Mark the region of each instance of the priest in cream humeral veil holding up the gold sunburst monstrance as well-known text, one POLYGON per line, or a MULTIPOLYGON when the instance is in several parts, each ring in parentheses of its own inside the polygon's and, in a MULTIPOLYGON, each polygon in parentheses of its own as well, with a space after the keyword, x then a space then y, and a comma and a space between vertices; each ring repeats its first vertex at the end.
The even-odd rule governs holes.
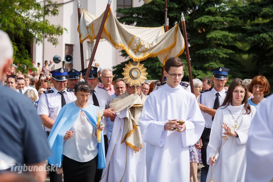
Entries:
POLYGON ((141 85, 147 79, 143 64, 131 61, 123 68, 126 92, 113 98, 110 108, 116 113, 103 169, 103 182, 146 182, 146 143, 143 142, 138 118, 147 96, 141 85))

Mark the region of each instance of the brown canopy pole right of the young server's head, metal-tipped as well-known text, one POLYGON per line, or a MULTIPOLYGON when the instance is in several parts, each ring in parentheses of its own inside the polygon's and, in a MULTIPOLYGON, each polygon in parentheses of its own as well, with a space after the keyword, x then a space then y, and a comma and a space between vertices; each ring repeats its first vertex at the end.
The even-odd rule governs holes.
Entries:
POLYGON ((194 94, 194 87, 193 87, 192 73, 191 73, 191 66, 190 66, 190 52, 189 52, 189 45, 188 45, 188 39, 187 39, 185 17, 183 15, 183 12, 181 14, 181 21, 182 21, 182 26, 183 26, 183 35, 184 35, 184 41, 185 41, 186 57, 187 57, 187 64, 188 64, 189 77, 190 77, 190 90, 191 90, 191 93, 194 94))

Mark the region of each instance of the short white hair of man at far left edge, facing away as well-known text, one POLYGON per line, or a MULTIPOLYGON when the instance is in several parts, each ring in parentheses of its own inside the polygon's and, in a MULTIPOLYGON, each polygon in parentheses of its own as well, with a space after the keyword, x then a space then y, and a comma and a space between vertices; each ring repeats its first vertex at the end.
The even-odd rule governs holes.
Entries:
POLYGON ((0 66, 5 64, 7 59, 13 57, 12 42, 6 32, 0 30, 0 66))

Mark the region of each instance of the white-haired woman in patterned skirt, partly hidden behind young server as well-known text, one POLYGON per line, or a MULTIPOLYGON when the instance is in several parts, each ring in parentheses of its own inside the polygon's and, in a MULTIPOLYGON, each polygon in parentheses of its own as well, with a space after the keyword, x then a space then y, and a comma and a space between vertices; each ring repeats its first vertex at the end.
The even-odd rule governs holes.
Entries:
MULTIPOLYGON (((195 95, 196 99, 198 99, 198 97, 203 89, 203 83, 198 78, 195 78, 192 81, 193 81, 193 86, 194 86, 194 95, 195 95)), ((202 141, 200 141, 200 142, 202 143, 202 141)), ((195 146, 189 146, 189 150, 190 150, 190 182, 198 182, 197 163, 202 163, 201 146, 202 146, 202 144, 198 144, 198 143, 195 146)))

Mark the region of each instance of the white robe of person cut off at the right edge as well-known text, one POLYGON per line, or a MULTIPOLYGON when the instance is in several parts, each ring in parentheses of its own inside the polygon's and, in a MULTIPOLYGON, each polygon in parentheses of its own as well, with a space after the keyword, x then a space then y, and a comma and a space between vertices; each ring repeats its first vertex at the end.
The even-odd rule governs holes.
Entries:
POLYGON ((247 142, 245 182, 270 181, 273 177, 273 96, 257 108, 247 142))

